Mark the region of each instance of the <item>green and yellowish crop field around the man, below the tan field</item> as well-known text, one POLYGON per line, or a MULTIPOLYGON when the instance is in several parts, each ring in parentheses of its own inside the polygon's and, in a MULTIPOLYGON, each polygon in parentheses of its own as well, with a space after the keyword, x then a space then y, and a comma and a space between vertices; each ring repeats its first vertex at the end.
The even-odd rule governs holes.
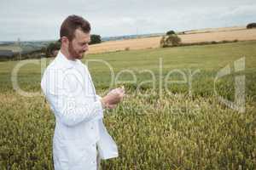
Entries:
MULTIPOLYGON (((131 81, 131 73, 137 77, 137 82, 124 83, 124 102, 106 112, 104 122, 119 146, 119 157, 103 161, 102 169, 256 169, 255 47, 256 41, 251 41, 85 56, 98 94, 108 92, 109 65, 115 77, 126 70, 120 81, 131 81), (234 100, 235 77, 245 75, 246 111, 240 113, 218 100, 214 78, 226 65, 234 71, 234 61, 242 57, 245 70, 216 84, 219 95, 234 100), (189 80, 189 71, 196 70, 190 90, 188 81, 164 86, 170 71, 179 73, 168 80, 189 80), (145 82, 152 77, 155 88, 145 82)), ((20 68, 18 82, 26 92, 40 92, 44 62, 31 61, 34 64, 20 68)), ((0 167, 52 169, 55 119, 43 96, 23 97, 12 88, 11 72, 18 64, 0 62, 0 167)))

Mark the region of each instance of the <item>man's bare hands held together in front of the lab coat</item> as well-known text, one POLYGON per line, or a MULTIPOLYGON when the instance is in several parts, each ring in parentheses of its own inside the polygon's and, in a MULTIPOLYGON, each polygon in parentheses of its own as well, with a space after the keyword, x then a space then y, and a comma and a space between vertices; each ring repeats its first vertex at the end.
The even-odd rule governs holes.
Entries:
POLYGON ((125 88, 115 88, 102 98, 102 105, 105 108, 113 109, 124 98, 125 88))

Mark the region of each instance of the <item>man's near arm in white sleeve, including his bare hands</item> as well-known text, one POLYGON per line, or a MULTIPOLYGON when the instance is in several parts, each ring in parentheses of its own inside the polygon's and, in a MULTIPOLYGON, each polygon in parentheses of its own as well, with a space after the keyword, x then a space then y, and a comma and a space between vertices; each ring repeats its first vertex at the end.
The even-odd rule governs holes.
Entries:
POLYGON ((88 122, 93 119, 102 119, 103 108, 113 109, 125 94, 124 90, 117 88, 116 92, 109 93, 103 98, 97 96, 95 102, 86 103, 86 99, 84 99, 82 104, 78 104, 75 99, 76 94, 73 94, 73 86, 70 86, 76 79, 67 78, 67 76, 68 74, 66 77, 63 76, 61 71, 46 72, 41 82, 41 87, 55 116, 67 126, 75 126, 80 122, 88 122), (65 79, 60 77, 65 77, 65 79), (65 88, 63 88, 64 85, 66 85, 65 88))

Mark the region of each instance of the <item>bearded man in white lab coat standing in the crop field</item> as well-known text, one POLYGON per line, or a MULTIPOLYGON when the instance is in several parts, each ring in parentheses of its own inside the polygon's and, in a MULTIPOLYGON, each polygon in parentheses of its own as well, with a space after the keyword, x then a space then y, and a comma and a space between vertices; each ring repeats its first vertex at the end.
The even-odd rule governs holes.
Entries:
MULTIPOLYGON (((55 114, 55 170, 93 170, 96 157, 118 156, 117 146, 102 122, 103 109, 113 109, 125 94, 116 88, 105 97, 96 90, 83 58, 90 42, 90 23, 68 16, 60 31, 61 50, 44 71, 41 87, 55 114)), ((98 162, 99 164, 99 162, 98 162)))

